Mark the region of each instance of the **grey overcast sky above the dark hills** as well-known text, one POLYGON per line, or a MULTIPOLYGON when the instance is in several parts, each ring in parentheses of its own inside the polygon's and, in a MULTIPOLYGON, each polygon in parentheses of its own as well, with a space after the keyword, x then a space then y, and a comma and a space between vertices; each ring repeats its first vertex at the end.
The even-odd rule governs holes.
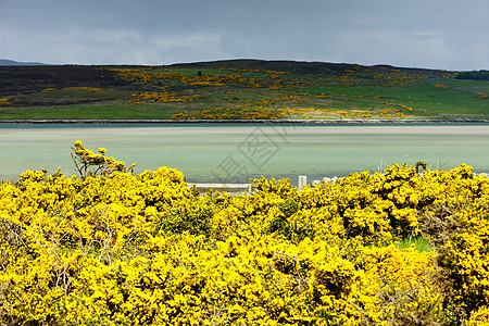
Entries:
POLYGON ((0 59, 489 70, 489 0, 0 0, 0 59))

